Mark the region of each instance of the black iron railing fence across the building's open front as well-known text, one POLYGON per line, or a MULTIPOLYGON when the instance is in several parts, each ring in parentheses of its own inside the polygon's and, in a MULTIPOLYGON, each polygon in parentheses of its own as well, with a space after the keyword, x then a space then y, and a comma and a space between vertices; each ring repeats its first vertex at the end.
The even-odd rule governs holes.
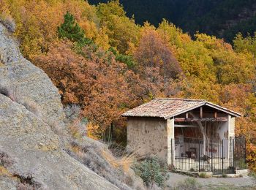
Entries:
POLYGON ((175 145, 171 158, 177 170, 227 174, 246 169, 244 138, 205 140, 205 143, 202 139, 181 138, 172 140, 171 145, 172 148, 175 145))

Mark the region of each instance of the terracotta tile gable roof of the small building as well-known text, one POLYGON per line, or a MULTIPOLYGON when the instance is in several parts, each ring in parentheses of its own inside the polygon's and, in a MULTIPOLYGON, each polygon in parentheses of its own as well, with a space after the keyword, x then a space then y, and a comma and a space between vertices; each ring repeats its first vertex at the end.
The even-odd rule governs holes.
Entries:
POLYGON ((193 110, 197 107, 208 105, 214 107, 217 110, 222 110, 233 116, 241 116, 239 113, 227 110, 225 107, 206 102, 204 99, 167 99, 158 98, 153 99, 151 102, 142 104, 135 107, 132 110, 127 111, 122 116, 125 117, 157 117, 157 118, 171 118, 181 113, 185 113, 189 110, 193 110))

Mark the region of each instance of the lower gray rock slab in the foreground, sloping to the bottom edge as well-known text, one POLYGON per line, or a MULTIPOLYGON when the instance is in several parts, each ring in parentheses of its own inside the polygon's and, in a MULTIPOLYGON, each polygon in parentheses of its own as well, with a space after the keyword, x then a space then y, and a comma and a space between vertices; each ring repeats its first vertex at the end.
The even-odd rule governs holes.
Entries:
POLYGON ((0 115, 0 151, 12 159, 5 166, 12 174, 32 176, 42 189, 117 189, 62 151, 34 113, 1 94, 0 115))

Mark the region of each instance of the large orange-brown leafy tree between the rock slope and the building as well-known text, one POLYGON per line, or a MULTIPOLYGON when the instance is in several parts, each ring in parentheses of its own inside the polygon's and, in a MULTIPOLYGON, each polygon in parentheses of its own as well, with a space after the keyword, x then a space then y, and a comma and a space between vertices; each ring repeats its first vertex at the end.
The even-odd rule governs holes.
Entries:
POLYGON ((84 58, 72 47, 71 42, 55 42, 46 56, 37 56, 37 64, 59 88, 62 102, 80 104, 84 116, 105 132, 134 99, 125 80, 127 67, 104 50, 94 53, 84 47, 90 57, 84 58))

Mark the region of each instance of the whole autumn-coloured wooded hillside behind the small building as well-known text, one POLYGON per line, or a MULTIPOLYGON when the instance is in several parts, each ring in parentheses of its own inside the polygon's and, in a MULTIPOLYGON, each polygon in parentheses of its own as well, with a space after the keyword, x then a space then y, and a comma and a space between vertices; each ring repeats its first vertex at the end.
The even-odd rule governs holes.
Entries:
MULTIPOLYGON (((89 137, 125 145, 121 113, 164 96, 242 113, 236 135, 256 137, 256 37, 238 34, 232 47, 207 34, 192 38, 167 20, 140 26, 118 1, 4 0, 0 11, 7 25, 15 22, 20 50, 48 74, 62 103, 82 108, 89 137)), ((256 147, 247 145, 255 170, 256 147)))

